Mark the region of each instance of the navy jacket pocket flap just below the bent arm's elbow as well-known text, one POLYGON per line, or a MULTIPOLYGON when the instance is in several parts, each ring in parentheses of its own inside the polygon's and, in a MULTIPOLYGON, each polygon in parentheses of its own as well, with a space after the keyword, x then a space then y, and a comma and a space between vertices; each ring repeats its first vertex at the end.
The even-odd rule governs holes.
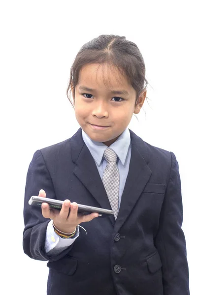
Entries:
POLYGON ((78 261, 72 257, 65 256, 57 261, 49 261, 47 266, 59 272, 65 273, 66 275, 74 274, 77 268, 78 261))

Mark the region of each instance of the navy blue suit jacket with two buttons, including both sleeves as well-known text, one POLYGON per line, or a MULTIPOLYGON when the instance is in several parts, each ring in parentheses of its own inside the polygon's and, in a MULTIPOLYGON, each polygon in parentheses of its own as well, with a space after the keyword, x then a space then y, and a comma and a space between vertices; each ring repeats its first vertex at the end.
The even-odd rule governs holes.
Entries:
POLYGON ((172 152, 131 130, 131 162, 117 220, 96 218, 56 256, 45 252, 49 219, 28 204, 40 189, 48 198, 111 209, 81 128, 37 150, 25 189, 24 252, 48 261, 47 295, 189 295, 178 163, 172 152))

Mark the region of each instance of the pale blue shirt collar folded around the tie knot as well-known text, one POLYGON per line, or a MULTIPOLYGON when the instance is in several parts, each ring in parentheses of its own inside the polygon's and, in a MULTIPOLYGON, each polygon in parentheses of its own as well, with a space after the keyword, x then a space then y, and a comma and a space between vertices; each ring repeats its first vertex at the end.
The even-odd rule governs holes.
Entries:
MULTIPOLYGON (((94 160, 96 161, 97 165, 100 166, 103 153, 107 146, 103 143, 96 142, 92 140, 82 129, 82 137, 83 140, 90 150, 94 160)), ((120 159, 121 163, 124 165, 125 160, 127 157, 127 153, 131 144, 131 136, 130 131, 127 128, 119 137, 118 139, 109 147, 112 148, 115 153, 117 154, 118 158, 120 159)))

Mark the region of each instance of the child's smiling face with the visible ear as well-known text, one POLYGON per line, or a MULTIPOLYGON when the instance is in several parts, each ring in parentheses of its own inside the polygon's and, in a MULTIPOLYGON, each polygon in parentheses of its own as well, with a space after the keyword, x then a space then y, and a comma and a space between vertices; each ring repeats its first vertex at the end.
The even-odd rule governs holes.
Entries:
POLYGON ((99 67, 99 64, 84 65, 75 88, 75 116, 92 140, 109 147, 125 131, 132 114, 139 113, 145 97, 146 90, 143 90, 135 105, 136 92, 117 68, 107 65, 99 67), (128 93, 111 92, 114 90, 128 93))

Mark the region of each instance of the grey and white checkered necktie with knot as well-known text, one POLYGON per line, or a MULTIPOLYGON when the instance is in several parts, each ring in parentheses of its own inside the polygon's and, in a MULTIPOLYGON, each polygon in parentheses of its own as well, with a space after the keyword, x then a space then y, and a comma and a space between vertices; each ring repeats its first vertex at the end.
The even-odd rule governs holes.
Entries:
POLYGON ((113 149, 106 148, 103 158, 107 161, 107 166, 103 173, 102 182, 116 219, 118 215, 119 201, 119 171, 116 164, 117 154, 113 149))

